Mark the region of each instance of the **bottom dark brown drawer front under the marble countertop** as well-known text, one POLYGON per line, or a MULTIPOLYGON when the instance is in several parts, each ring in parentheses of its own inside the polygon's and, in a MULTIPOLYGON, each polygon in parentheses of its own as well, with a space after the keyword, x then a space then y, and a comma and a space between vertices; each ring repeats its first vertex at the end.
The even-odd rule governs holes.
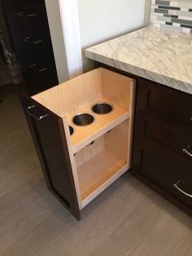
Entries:
POLYGON ((192 214, 191 166, 140 139, 135 141, 135 148, 134 165, 140 179, 189 207, 192 214))

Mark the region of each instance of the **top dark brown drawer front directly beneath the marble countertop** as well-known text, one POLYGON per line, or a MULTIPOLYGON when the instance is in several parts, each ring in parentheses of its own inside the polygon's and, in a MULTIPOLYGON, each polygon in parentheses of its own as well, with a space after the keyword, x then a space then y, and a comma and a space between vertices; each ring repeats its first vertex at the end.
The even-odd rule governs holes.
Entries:
POLYGON ((192 95, 141 78, 137 87, 137 111, 192 133, 192 95))

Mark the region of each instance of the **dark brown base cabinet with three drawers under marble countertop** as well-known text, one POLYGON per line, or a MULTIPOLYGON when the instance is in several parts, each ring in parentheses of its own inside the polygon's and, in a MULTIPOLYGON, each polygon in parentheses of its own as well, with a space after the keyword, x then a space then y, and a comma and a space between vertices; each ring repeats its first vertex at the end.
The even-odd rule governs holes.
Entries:
POLYGON ((138 78, 131 172, 192 215, 192 96, 138 78))

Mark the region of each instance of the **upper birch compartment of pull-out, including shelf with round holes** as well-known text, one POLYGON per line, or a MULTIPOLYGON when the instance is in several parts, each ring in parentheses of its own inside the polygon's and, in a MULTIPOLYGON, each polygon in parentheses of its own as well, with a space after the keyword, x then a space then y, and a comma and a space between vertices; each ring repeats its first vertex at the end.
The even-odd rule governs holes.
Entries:
POLYGON ((71 147, 75 153, 129 118, 132 86, 132 78, 106 68, 96 68, 34 95, 33 99, 59 117, 68 119, 68 125, 74 129, 71 147), (91 107, 101 101, 113 104, 111 113, 99 115, 91 112, 91 107), (76 126, 72 123, 72 117, 79 113, 92 114, 95 121, 89 126, 76 126))

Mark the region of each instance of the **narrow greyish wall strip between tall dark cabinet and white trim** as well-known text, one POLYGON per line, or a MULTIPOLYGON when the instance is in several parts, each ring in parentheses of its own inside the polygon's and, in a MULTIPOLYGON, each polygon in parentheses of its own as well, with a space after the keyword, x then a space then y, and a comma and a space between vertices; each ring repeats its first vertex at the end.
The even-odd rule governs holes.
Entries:
POLYGON ((46 0, 46 11, 50 25, 50 36, 55 55, 55 64, 59 83, 61 83, 68 80, 68 66, 59 11, 59 0, 46 0))

